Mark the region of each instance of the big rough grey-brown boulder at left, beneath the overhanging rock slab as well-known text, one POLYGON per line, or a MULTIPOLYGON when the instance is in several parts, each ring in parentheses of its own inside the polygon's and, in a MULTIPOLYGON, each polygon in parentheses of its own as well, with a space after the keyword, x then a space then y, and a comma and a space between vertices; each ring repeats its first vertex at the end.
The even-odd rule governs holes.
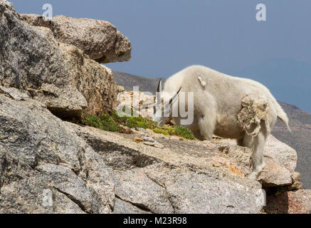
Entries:
POLYGON ((79 48, 59 43, 51 29, 30 26, 0 1, 0 84, 28 91, 61 118, 110 113, 113 74, 79 48))

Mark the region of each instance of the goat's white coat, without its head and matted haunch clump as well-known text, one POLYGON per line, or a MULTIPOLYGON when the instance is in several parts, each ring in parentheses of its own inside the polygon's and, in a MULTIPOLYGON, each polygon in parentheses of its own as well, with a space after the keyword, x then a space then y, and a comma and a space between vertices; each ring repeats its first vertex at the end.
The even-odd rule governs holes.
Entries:
MULTIPOLYGON (((194 92, 194 123, 185 127, 200 140, 209 140, 213 135, 218 135, 236 139, 238 145, 251 148, 251 178, 255 179, 265 165, 263 147, 277 118, 288 126, 286 113, 268 88, 251 79, 228 76, 204 66, 190 66, 174 74, 167 79, 163 91, 172 93, 180 87, 181 92, 194 92), (259 133, 255 137, 246 133, 237 120, 241 100, 246 95, 264 97, 268 103, 267 118, 261 120, 259 133)), ((181 100, 178 99, 178 102, 187 107, 187 104, 181 104, 181 100)), ((176 125, 180 125, 180 117, 172 119, 176 125)))

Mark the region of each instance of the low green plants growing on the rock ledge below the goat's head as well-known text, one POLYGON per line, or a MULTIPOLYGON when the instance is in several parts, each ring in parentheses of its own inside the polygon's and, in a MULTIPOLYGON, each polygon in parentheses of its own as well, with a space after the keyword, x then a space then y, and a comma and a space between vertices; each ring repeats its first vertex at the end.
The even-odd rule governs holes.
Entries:
POLYGON ((188 140, 195 140, 193 133, 191 130, 184 128, 182 126, 172 126, 172 125, 164 125, 159 126, 152 120, 148 120, 142 118, 141 116, 124 116, 120 117, 117 115, 117 112, 112 115, 108 115, 106 113, 102 113, 102 115, 85 115, 83 120, 83 124, 100 128, 102 130, 109 131, 121 131, 120 125, 125 125, 128 128, 144 128, 151 129, 154 133, 163 134, 163 135, 177 135, 181 138, 185 138, 188 140))

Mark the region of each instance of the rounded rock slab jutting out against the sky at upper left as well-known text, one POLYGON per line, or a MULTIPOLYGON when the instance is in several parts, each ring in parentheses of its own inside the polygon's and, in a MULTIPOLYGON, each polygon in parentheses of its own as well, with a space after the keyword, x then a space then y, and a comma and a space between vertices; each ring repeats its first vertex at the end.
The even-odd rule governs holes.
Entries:
POLYGON ((68 16, 49 19, 36 14, 22 14, 21 19, 32 26, 50 28, 58 41, 80 48, 99 63, 131 59, 130 41, 108 21, 73 19, 68 16))

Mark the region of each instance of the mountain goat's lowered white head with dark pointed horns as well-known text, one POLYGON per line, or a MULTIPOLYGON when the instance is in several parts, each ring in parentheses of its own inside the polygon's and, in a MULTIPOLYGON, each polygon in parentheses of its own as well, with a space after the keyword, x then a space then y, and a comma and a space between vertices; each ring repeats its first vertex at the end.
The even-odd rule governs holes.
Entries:
POLYGON ((154 112, 152 120, 159 125, 164 125, 165 120, 169 118, 173 104, 178 100, 181 88, 172 97, 168 93, 162 93, 162 80, 159 81, 156 95, 156 103, 154 103, 154 112), (168 97, 169 96, 169 97, 168 97))

